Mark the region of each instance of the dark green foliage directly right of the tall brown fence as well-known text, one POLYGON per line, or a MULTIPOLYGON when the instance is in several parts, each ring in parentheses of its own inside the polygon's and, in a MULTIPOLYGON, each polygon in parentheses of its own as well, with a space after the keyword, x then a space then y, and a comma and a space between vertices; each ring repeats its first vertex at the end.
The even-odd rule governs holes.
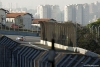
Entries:
POLYGON ((78 28, 78 47, 90 50, 100 54, 100 38, 96 37, 96 34, 92 34, 89 28, 78 28))

